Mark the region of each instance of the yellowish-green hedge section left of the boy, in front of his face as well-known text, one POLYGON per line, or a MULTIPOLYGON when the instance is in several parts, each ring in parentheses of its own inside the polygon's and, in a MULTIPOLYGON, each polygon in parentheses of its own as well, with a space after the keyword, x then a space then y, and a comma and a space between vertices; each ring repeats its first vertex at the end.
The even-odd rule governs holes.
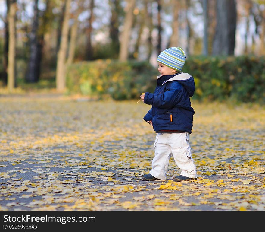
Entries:
POLYGON ((155 75, 157 71, 148 62, 97 60, 70 65, 66 82, 69 93, 124 100, 154 91, 155 75))

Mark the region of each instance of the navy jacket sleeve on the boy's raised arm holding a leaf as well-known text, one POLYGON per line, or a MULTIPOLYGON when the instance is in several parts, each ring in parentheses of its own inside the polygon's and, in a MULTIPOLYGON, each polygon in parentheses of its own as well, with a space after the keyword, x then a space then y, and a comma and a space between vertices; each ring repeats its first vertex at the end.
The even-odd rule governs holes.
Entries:
POLYGON ((158 108, 170 109, 182 101, 184 89, 177 81, 172 81, 161 94, 146 92, 144 103, 158 108))

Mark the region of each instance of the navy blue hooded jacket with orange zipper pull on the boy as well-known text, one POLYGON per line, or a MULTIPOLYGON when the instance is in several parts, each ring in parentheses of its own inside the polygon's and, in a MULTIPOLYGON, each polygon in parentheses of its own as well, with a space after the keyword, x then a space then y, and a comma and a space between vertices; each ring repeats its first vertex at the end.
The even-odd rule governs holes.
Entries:
POLYGON ((144 120, 152 120, 154 131, 176 130, 192 133, 194 110, 190 97, 195 91, 194 78, 188 73, 157 77, 154 93, 145 93, 144 103, 151 109, 144 120))

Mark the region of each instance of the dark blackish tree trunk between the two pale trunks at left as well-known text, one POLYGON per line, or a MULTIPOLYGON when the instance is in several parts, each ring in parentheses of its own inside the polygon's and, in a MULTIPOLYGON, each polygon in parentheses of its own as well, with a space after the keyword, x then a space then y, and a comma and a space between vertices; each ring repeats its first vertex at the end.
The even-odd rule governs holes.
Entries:
POLYGON ((37 62, 39 59, 37 59, 38 56, 38 38, 37 38, 37 33, 38 33, 38 27, 39 27, 39 10, 38 10, 38 1, 35 0, 34 3, 34 17, 33 17, 33 24, 32 24, 32 30, 30 32, 30 59, 28 63, 28 72, 26 74, 26 81, 27 82, 37 82, 39 80, 38 77, 38 64, 37 62))

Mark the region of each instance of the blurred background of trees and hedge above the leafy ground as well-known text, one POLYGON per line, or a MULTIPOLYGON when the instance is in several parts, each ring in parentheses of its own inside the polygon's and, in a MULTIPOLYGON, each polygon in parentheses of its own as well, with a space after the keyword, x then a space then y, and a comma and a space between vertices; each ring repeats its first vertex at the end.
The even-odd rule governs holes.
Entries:
POLYGON ((139 98, 172 46, 194 99, 265 102, 265 0, 0 0, 0 96, 139 98))

